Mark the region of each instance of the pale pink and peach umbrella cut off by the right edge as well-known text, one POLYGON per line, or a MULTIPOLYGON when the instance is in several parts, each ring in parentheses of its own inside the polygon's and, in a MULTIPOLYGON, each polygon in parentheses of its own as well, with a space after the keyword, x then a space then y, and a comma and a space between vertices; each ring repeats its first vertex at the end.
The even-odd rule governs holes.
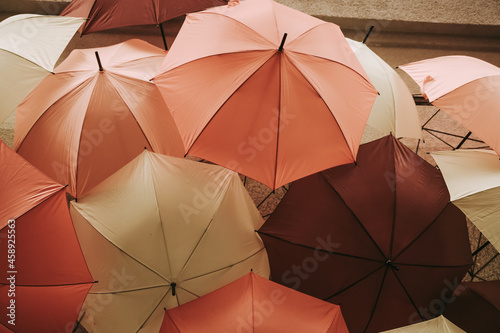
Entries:
POLYGON ((439 109, 500 154, 500 68, 466 56, 445 56, 400 66, 439 109))

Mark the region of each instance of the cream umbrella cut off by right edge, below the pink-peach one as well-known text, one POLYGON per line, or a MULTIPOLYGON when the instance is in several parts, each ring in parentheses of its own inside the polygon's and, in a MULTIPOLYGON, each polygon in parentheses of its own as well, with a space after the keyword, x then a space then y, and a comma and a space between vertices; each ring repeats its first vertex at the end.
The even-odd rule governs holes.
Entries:
POLYGON ((500 251, 500 161, 491 150, 434 152, 453 203, 500 251))

